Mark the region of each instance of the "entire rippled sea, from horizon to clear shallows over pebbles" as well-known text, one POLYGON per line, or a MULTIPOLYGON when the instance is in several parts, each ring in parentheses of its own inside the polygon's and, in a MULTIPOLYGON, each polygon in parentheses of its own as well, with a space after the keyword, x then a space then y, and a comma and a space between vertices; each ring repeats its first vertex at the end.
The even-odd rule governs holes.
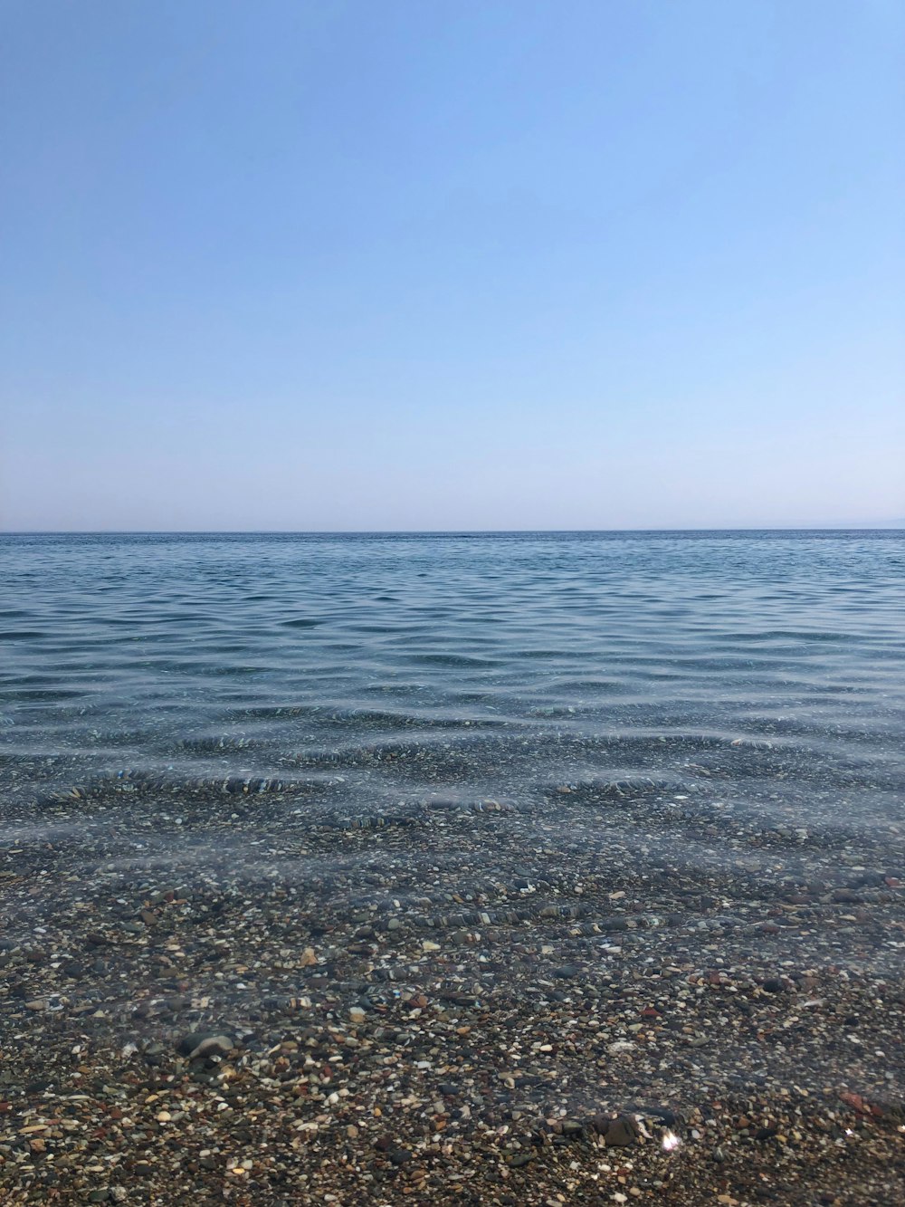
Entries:
POLYGON ((25 1066, 391 1019, 433 1101, 427 1002, 494 1127, 789 1085, 899 1109, 904 533, 0 548, 25 1066))

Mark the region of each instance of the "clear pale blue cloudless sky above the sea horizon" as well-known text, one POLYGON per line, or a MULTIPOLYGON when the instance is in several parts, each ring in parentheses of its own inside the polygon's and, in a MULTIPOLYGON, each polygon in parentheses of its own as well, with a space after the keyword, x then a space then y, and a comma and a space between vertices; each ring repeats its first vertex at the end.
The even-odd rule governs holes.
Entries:
POLYGON ((4 0, 0 526, 905 517, 900 0, 4 0))

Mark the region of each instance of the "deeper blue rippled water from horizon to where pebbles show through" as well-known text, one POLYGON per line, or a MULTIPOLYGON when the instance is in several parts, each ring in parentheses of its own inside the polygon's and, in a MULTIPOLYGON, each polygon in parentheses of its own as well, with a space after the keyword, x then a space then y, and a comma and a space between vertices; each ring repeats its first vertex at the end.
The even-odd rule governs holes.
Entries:
POLYGON ((351 822, 643 792, 900 817, 899 531, 21 535, 0 558, 23 807, 118 780, 220 786, 211 809, 303 785, 351 822))

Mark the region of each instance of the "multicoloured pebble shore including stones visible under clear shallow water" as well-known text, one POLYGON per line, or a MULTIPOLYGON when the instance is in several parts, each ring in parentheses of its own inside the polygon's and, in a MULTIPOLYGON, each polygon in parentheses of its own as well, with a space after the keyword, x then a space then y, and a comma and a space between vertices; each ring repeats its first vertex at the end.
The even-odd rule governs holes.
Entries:
POLYGON ((315 787, 10 797, 4 1203, 905 1201, 895 823, 315 787))

